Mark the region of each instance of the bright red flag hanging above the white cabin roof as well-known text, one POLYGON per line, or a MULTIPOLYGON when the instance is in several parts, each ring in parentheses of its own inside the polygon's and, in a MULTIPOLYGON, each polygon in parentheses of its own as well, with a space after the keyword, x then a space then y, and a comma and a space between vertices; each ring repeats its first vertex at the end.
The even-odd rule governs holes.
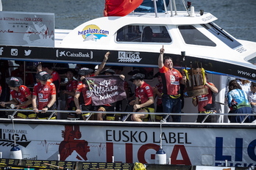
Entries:
POLYGON ((105 0, 104 16, 125 16, 142 2, 143 0, 105 0))

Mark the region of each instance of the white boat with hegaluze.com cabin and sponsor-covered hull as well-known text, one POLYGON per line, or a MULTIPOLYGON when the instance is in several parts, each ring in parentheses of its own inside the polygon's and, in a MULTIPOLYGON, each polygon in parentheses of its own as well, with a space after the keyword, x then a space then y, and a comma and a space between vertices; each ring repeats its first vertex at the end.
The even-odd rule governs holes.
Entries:
MULTIPOLYGON (((174 6, 174 1, 171 4, 174 6)), ((132 67, 150 67, 154 75, 158 71, 160 48, 164 46, 166 55, 174 59, 177 68, 204 68, 221 89, 216 98, 218 122, 196 123, 194 113, 197 111, 190 98, 185 98, 179 123, 10 117, 0 119, 3 158, 10 158, 11 147, 18 144, 24 160, 150 164, 156 163, 156 152, 161 147, 166 153, 166 163, 171 165, 255 166, 256 124, 228 122, 224 96, 232 78, 256 81, 256 42, 235 39, 214 23, 217 18, 213 14, 195 12, 193 6, 184 5, 185 11, 171 7, 161 13, 131 12, 125 16, 96 18, 73 30, 56 29, 54 47, 32 42, 0 45, 0 59, 100 64, 104 53, 110 51, 107 66, 123 66, 126 75, 132 67), (148 38, 144 31, 150 29, 152 34, 148 38)), ((42 37, 52 39, 47 30, 42 37)), ((156 83, 150 74, 147 82, 156 83)))

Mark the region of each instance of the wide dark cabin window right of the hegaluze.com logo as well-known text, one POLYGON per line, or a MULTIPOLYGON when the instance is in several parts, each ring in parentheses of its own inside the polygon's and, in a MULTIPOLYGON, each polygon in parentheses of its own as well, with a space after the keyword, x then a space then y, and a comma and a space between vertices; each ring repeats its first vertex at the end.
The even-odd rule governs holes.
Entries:
POLYGON ((117 42, 171 42, 166 26, 128 25, 118 30, 117 42))

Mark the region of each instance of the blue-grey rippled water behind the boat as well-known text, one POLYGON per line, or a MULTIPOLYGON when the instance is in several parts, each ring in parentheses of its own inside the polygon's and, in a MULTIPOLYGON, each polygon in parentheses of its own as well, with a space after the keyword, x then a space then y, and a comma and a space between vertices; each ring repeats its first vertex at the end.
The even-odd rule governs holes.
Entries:
MULTIPOLYGON (((191 0, 195 11, 215 15, 215 23, 232 36, 256 42, 256 0, 191 0)), ((74 29, 103 16, 104 0, 2 0, 4 11, 52 12, 56 29, 74 29)), ((183 10, 177 0, 177 9, 183 10)))

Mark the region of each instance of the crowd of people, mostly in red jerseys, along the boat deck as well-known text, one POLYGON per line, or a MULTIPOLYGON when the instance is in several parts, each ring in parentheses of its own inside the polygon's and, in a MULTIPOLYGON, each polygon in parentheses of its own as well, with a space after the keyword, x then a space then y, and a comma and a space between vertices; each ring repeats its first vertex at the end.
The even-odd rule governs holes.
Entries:
MULTIPOLYGON (((158 58, 159 72, 154 75, 159 84, 150 86, 144 81, 145 74, 140 71, 133 71, 129 75, 129 81, 135 84, 135 93, 131 95, 127 81, 124 81, 124 89, 127 92, 127 99, 129 102, 131 114, 128 120, 135 122, 157 121, 160 122, 166 115, 163 114, 148 114, 148 113, 181 113, 184 106, 183 92, 185 75, 175 69, 172 59, 168 56, 163 56, 164 48, 160 49, 158 58), (183 87, 183 88, 182 88, 183 87), (156 101, 155 101, 156 100, 156 101)), ((65 76, 68 82, 65 84, 65 89, 62 90, 65 94, 65 110, 71 111, 67 117, 71 119, 87 119, 90 111, 99 111, 96 114, 90 115, 93 120, 120 120, 122 114, 118 112, 123 111, 122 101, 115 103, 107 103, 102 106, 93 106, 90 89, 85 79, 88 77, 95 77, 97 75, 120 75, 124 79, 124 75, 120 72, 122 67, 113 66, 104 70, 110 52, 105 53, 103 62, 99 64, 97 70, 88 67, 80 67, 76 72, 75 69, 66 69, 63 75, 53 70, 49 63, 40 63, 37 66, 37 73, 35 75, 36 84, 33 84, 33 90, 23 84, 22 76, 17 76, 19 72, 13 73, 13 76, 6 78, 6 83, 10 87, 11 100, 1 101, 1 108, 10 107, 15 109, 30 109, 33 111, 18 111, 15 118, 19 119, 48 119, 51 115, 49 110, 56 110, 58 104, 58 97, 60 90, 61 76, 65 76), (103 71, 102 71, 103 70, 103 71), (16 75, 16 76, 15 76, 16 75), (107 112, 110 114, 106 114, 107 112), (115 114, 116 111, 116 114, 115 114)), ((15 72, 15 70, 14 70, 15 72)), ((28 78, 28 77, 26 77, 28 78)), ((249 84, 249 92, 245 92, 241 80, 232 80, 229 84, 229 92, 227 92, 227 103, 230 107, 230 113, 238 113, 240 115, 229 117, 230 122, 242 122, 246 114, 255 112, 256 105, 256 84, 254 82, 247 82, 249 84), (241 115, 244 114, 244 115, 241 115)), ((213 83, 207 81, 205 76, 205 87, 208 93, 192 98, 193 106, 198 108, 199 116, 196 122, 214 122, 214 116, 207 117, 205 114, 216 113, 215 96, 218 89, 213 83)), ((0 86, 1 95, 1 86, 0 86)), ((127 111, 127 109, 125 109, 127 111)), ((1 111, 1 117, 5 117, 1 111)), ((51 115, 51 119, 57 119, 57 115, 51 115)), ((249 116, 245 122, 253 122, 255 117, 249 116)), ((181 122, 181 115, 171 115, 168 117, 168 122, 181 122)))

